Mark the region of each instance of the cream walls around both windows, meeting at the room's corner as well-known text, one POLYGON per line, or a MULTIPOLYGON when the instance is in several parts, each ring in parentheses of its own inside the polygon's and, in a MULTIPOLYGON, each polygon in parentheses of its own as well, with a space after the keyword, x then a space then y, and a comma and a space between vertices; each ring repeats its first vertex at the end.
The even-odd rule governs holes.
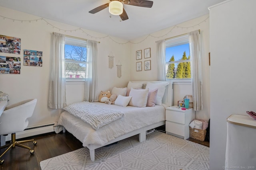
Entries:
MULTIPOLYGON (((21 13, 0 7, 0 34, 9 35, 21 38, 21 50, 38 50, 43 51, 43 66, 21 67, 20 75, 2 74, 0 75, 0 90, 6 92, 10 96, 9 104, 16 103, 27 98, 37 98, 38 103, 33 116, 29 119, 29 126, 43 125, 53 123, 58 119, 60 110, 48 108, 48 91, 50 79, 50 64, 52 53, 52 32, 59 32, 74 37, 81 37, 85 39, 92 39, 100 41, 98 43, 98 72, 99 72, 99 91, 111 90, 112 87, 124 87, 129 80, 157 80, 157 59, 156 59, 156 41, 174 37, 197 29, 201 30, 202 41, 202 73, 203 73, 203 110, 196 112, 196 117, 208 120, 210 118, 210 66, 208 65, 209 52, 209 16, 202 16, 194 20, 189 20, 173 27, 168 27, 161 31, 152 33, 148 37, 140 37, 132 40, 130 43, 124 39, 116 37, 106 37, 106 35, 94 31, 83 29, 82 31, 62 31, 77 29, 72 25, 58 23, 47 20, 50 24, 43 20, 30 22, 13 21, 14 20, 37 20, 40 17, 21 13), (62 30, 56 29, 59 27, 62 30), (105 38, 100 38, 105 37, 105 38), (122 44, 125 43, 125 44, 122 44), (151 48, 151 70, 136 71, 136 51, 142 50, 142 61, 144 64, 144 49, 151 48), (114 55, 114 68, 108 68, 108 55, 114 55), (122 77, 116 76, 116 64, 120 61, 122 64, 122 77)), ((2 56, 23 57, 22 55, 14 55, 7 53, 0 53, 2 56)), ((147 60, 148 60, 147 59, 147 60)), ((21 60, 23 62, 23 58, 21 60)), ((185 85, 187 86, 187 84, 185 85)), ((184 86, 184 87, 185 87, 184 86)), ((67 83, 67 103, 79 102, 83 100, 83 84, 80 82, 67 83)), ((180 86, 174 86, 175 100, 182 100, 183 92, 186 94, 191 90, 191 86, 186 90, 182 90, 180 86), (179 94, 180 91, 180 94, 179 94)), ((174 101, 176 104, 177 101, 174 101)))

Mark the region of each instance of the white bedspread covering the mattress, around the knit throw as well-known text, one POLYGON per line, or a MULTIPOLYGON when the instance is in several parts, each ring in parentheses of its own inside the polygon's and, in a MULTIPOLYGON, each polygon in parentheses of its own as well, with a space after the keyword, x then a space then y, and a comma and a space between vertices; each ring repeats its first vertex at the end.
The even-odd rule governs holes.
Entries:
POLYGON ((94 104, 122 111, 124 113, 124 117, 104 125, 96 131, 89 124, 84 123, 81 119, 78 119, 74 115, 64 111, 61 113, 58 122, 54 125, 55 132, 59 133, 62 130, 61 126, 64 126, 67 131, 72 133, 83 143, 84 147, 87 147, 90 144, 103 146, 121 135, 165 120, 164 106, 122 107, 100 102, 96 102, 94 104))

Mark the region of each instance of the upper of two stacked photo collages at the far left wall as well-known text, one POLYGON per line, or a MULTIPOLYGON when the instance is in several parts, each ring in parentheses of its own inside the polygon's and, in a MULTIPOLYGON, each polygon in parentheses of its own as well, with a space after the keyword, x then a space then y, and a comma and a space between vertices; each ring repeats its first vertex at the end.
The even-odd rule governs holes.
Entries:
POLYGON ((20 45, 20 38, 0 35, 0 52, 20 54, 20 45))

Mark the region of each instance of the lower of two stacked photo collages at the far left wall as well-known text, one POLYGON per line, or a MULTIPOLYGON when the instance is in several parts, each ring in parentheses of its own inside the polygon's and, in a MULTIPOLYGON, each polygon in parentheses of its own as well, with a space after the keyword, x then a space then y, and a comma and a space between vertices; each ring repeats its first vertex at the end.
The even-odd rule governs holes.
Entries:
POLYGON ((0 74, 20 74, 20 57, 0 56, 0 74))

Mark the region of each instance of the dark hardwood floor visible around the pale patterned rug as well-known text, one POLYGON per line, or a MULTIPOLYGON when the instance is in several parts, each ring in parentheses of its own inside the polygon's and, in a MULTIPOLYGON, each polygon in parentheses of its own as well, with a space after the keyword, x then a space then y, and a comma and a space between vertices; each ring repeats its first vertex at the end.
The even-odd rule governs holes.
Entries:
MULTIPOLYGON (((24 145, 34 149, 34 154, 30 154, 28 149, 14 147, 4 156, 4 163, 0 165, 1 170, 41 170, 40 162, 54 156, 58 156, 76 149, 82 148, 82 143, 76 139, 68 131, 66 133, 46 133, 34 137, 18 139, 17 141, 35 139, 37 145, 32 142, 23 143, 24 145)), ((201 142, 196 139, 188 139, 189 141, 200 143, 209 147, 208 142, 201 142)), ((2 154, 6 148, 0 149, 2 154)))

